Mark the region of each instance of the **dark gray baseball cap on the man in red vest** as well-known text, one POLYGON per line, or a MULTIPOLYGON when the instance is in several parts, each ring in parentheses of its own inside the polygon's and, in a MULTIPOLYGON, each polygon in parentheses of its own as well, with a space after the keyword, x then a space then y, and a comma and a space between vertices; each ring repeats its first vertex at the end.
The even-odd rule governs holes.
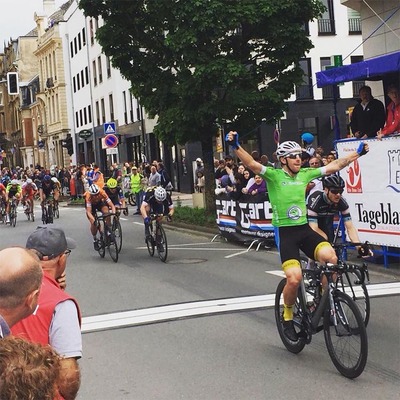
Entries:
POLYGON ((26 241, 27 249, 34 249, 49 258, 57 257, 65 250, 75 247, 75 240, 66 237, 61 228, 54 226, 38 226, 26 241))

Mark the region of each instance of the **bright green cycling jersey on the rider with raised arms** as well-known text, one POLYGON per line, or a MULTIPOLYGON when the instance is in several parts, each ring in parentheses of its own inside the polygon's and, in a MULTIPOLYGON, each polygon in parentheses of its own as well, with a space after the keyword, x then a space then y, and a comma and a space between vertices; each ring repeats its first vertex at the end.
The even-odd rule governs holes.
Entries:
POLYGON ((267 181, 272 225, 307 224, 306 187, 313 179, 325 175, 325 168, 301 168, 295 176, 291 176, 283 169, 263 166, 260 175, 267 181))

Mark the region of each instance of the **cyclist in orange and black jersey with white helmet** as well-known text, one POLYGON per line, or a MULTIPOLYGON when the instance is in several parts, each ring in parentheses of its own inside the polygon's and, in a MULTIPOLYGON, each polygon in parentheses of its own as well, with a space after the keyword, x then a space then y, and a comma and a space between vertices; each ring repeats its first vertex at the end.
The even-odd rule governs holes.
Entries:
MULTIPOLYGON (((99 242, 97 239, 97 227, 94 224, 96 212, 100 211, 105 215, 111 210, 112 213, 115 213, 115 206, 104 189, 100 189, 94 183, 89 186, 83 197, 85 199, 86 217, 89 220, 90 232, 93 235, 93 246, 97 251, 99 250, 99 242)), ((106 219, 106 223, 110 224, 109 218, 106 219)))

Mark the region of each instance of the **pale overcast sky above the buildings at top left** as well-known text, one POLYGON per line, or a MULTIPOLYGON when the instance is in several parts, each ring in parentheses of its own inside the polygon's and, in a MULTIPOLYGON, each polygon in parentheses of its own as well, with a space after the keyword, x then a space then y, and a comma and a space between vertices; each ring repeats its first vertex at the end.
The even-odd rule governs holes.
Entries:
MULTIPOLYGON (((55 0, 56 7, 66 0, 55 0)), ((35 28, 33 15, 42 14, 43 0, 0 0, 0 52, 10 40, 26 35, 35 28)))

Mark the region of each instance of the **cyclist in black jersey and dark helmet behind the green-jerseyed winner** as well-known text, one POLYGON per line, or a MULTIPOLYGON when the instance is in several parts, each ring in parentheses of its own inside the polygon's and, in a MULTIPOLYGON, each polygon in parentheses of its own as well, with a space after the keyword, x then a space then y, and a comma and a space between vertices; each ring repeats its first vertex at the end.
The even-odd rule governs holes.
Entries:
MULTIPOLYGON (((337 174, 323 178, 323 191, 316 191, 307 198, 307 217, 311 228, 333 243, 334 216, 340 214, 343 218, 347 235, 353 243, 360 243, 357 228, 351 220, 347 201, 343 198, 344 180, 337 174)), ((370 255, 367 245, 357 246, 360 256, 370 255)))

